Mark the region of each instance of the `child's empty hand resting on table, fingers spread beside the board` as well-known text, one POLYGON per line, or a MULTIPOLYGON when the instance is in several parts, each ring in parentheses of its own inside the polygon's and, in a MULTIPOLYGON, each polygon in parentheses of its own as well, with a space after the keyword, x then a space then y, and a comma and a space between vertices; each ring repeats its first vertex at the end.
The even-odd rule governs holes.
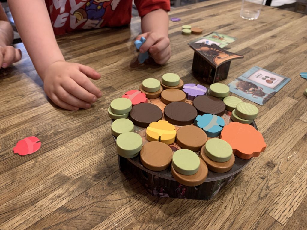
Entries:
POLYGON ((88 79, 100 78, 91 67, 58 61, 52 63, 41 77, 48 97, 64 109, 88 109, 101 97, 100 90, 88 79))

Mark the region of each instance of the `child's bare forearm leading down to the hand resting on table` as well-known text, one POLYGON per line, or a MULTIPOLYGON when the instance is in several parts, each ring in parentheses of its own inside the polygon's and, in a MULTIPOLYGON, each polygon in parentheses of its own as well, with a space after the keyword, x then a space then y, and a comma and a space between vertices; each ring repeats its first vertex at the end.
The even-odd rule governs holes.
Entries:
POLYGON ((44 71, 52 63, 64 61, 45 1, 23 0, 22 7, 20 0, 8 0, 8 3, 25 48, 37 73, 43 77, 44 71))

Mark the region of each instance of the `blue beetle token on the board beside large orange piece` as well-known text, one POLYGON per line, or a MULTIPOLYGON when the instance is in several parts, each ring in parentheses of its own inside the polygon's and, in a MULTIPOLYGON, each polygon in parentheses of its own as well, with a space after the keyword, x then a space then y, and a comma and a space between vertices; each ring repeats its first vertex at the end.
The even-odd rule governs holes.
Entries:
POLYGON ((225 122, 222 117, 206 113, 198 115, 194 120, 194 125, 202 128, 208 137, 217 137, 220 136, 225 122))

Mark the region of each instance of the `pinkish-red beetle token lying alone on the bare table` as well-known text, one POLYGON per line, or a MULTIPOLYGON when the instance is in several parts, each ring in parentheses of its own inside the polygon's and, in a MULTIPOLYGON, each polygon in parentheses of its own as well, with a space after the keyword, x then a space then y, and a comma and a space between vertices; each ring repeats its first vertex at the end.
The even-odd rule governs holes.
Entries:
POLYGON ((13 148, 14 153, 21 156, 32 154, 41 148, 41 142, 36 136, 29 136, 17 142, 13 148))

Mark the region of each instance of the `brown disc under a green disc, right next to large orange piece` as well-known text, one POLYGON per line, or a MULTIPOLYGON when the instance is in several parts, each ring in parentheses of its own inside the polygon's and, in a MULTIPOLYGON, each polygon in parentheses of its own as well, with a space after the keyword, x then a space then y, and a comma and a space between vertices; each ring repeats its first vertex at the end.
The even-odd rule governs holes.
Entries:
POLYGON ((216 162, 207 156, 204 148, 205 146, 201 148, 199 156, 201 159, 203 159, 206 162, 208 169, 210 169, 212 172, 217 172, 217 173, 224 173, 231 170, 233 164, 235 163, 235 155, 232 154, 230 160, 226 162, 216 162))

